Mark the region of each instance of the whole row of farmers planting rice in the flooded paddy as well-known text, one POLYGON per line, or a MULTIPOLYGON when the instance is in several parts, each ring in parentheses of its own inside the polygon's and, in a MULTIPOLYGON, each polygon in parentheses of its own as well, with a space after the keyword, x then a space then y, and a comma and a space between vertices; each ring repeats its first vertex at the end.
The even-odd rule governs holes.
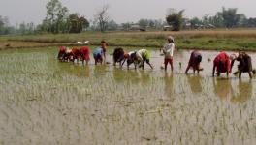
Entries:
MULTIPOLYGON (((107 49, 107 43, 105 41, 102 41, 101 46, 97 47, 93 51, 95 65, 97 65, 97 63, 102 64, 106 60, 106 54, 105 54, 106 49, 107 49)), ((172 72, 173 72, 174 50, 175 50, 174 38, 172 36, 168 36, 167 43, 165 43, 163 48, 160 49, 160 52, 163 51, 162 55, 164 55, 163 68, 167 70, 167 66, 168 64, 170 64, 172 72)), ((90 55, 90 51, 87 46, 82 46, 80 49, 78 48, 68 49, 64 46, 61 46, 58 53, 58 59, 61 61, 72 61, 72 62, 74 62, 75 60, 77 61, 81 60, 82 64, 84 64, 84 61, 86 61, 86 64, 88 64, 90 60, 89 55, 90 55)), ((144 63, 146 63, 149 65, 151 69, 153 69, 149 61, 150 52, 147 49, 140 49, 138 51, 125 52, 124 49, 121 47, 115 48, 112 54, 112 58, 113 58, 114 66, 116 65, 116 63, 119 63, 119 66, 122 67, 123 64, 126 62, 128 69, 131 64, 134 64, 135 69, 137 69, 137 67, 144 69, 144 63)), ((192 51, 185 73, 188 73, 189 69, 192 69, 194 73, 195 72, 199 73, 200 71, 203 71, 203 68, 200 66, 201 61, 202 61, 202 54, 198 50, 192 51)), ((251 57, 245 52, 233 53, 230 56, 225 52, 220 52, 213 60, 212 76, 214 76, 216 72, 217 76, 219 76, 220 73, 226 73, 227 77, 229 77, 229 74, 232 71, 232 67, 235 61, 238 61, 240 63, 238 66, 238 71, 236 72, 236 73, 239 73, 239 77, 241 76, 241 73, 248 73, 250 78, 252 78, 253 73, 252 73, 251 57)))

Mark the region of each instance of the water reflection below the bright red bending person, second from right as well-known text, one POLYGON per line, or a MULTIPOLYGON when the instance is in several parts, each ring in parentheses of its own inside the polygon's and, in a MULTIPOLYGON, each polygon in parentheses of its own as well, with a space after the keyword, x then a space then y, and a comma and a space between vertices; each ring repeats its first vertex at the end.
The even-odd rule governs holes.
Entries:
POLYGON ((221 99, 226 99, 232 88, 231 80, 220 78, 213 78, 213 86, 215 94, 218 95, 221 99))

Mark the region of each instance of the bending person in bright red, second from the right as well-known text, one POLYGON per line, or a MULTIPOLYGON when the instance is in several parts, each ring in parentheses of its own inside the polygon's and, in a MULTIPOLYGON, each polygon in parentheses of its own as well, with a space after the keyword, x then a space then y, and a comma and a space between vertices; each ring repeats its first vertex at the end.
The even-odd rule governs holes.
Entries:
POLYGON ((220 73, 227 73, 227 77, 229 77, 230 73, 230 59, 227 53, 220 52, 213 61, 213 70, 212 76, 215 74, 215 70, 217 69, 217 76, 220 73))

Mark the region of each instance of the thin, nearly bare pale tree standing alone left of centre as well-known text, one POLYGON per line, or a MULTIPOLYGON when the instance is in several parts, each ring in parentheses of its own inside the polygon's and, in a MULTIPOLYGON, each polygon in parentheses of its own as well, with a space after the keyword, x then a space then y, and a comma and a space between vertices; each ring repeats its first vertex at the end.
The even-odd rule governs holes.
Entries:
POLYGON ((101 32, 107 30, 108 21, 110 19, 109 14, 109 5, 104 5, 96 14, 95 20, 97 21, 98 25, 100 26, 101 32))

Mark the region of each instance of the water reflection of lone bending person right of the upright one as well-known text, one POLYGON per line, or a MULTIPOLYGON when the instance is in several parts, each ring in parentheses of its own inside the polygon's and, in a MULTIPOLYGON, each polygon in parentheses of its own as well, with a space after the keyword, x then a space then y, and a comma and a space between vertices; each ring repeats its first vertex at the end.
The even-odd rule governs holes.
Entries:
POLYGON ((200 76, 187 75, 187 81, 188 81, 191 91, 193 93, 201 93, 202 92, 201 80, 202 80, 202 78, 200 76))

